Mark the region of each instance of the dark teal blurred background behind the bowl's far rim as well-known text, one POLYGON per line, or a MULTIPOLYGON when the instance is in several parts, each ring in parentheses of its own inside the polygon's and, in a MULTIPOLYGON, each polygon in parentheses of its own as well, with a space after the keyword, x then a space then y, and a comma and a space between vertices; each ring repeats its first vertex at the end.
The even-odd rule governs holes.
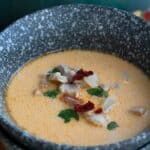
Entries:
POLYGON ((16 19, 33 11, 72 3, 111 6, 130 12, 150 9, 150 0, 0 0, 0 31, 16 19))

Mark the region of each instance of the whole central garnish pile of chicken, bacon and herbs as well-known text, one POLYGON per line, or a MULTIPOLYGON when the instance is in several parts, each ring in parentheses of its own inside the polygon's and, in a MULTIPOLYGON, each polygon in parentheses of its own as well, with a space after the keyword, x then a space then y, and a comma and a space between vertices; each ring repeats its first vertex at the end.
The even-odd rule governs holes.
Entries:
MULTIPOLYGON (((44 96, 54 99, 61 95, 60 100, 63 100, 70 106, 69 109, 58 113, 58 116, 64 119, 65 123, 70 122, 71 118, 79 120, 80 115, 82 115, 94 125, 108 125, 108 128, 112 126, 110 124, 111 119, 108 119, 109 117, 106 113, 115 104, 115 100, 112 100, 109 96, 109 88, 99 85, 99 78, 93 71, 58 65, 46 73, 45 78, 42 78, 40 81, 40 86, 41 84, 47 85, 45 86, 47 90, 43 92, 44 96), (49 90, 49 82, 56 83, 58 89, 49 90), (86 90, 91 96, 99 97, 100 104, 98 108, 95 108, 94 103, 90 100, 85 102, 77 96, 81 89, 86 90)), ((43 90, 40 90, 40 86, 35 93, 37 95, 43 90)))

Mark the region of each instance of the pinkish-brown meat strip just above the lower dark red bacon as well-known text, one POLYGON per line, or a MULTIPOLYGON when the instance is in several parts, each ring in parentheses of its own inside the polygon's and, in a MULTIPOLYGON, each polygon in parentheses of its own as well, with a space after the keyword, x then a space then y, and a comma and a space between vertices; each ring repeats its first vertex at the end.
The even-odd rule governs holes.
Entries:
POLYGON ((76 98, 75 96, 69 95, 67 93, 64 93, 61 96, 61 100, 63 100, 64 102, 70 104, 70 105, 82 105, 83 104, 83 100, 76 98))

